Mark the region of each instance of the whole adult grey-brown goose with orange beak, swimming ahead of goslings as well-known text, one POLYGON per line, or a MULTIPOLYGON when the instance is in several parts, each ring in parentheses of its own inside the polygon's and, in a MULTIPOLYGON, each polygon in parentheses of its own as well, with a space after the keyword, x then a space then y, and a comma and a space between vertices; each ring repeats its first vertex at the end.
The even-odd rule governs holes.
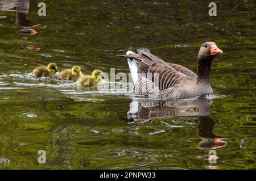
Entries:
POLYGON ((138 49, 138 54, 126 55, 134 82, 134 91, 151 98, 192 98, 212 94, 209 84, 210 66, 217 54, 222 53, 214 42, 201 45, 197 57, 197 72, 181 65, 171 64, 154 56, 148 49, 138 49))

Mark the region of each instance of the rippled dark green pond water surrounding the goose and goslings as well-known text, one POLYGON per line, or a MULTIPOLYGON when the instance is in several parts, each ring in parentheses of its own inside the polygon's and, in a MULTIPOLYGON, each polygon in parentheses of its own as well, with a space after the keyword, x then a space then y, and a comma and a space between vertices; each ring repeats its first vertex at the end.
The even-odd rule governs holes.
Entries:
POLYGON ((45 0, 46 16, 39 2, 0 1, 0 169, 255 169, 255 1, 214 1, 217 16, 210 1, 45 0), (128 75, 116 54, 137 48, 196 71, 205 41, 224 52, 205 98, 150 100, 31 75, 49 62, 128 75))

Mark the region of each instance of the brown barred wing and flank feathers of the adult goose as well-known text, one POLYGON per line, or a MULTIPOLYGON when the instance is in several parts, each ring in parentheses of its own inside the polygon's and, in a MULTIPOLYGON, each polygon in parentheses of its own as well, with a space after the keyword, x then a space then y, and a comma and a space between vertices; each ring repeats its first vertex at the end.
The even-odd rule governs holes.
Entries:
POLYGON ((133 58, 133 61, 138 64, 141 75, 134 85, 135 92, 164 98, 167 93, 163 92, 170 94, 174 87, 191 79, 197 79, 193 71, 181 65, 164 62, 161 58, 143 50, 138 50, 138 53, 126 56, 133 58))

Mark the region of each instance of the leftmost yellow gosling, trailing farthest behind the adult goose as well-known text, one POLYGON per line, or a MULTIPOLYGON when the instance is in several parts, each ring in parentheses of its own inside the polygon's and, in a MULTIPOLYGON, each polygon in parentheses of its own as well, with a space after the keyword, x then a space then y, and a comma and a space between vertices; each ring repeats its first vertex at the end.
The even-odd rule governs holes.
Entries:
POLYGON ((54 63, 47 66, 39 66, 32 71, 34 77, 57 77, 59 75, 59 69, 54 63))

